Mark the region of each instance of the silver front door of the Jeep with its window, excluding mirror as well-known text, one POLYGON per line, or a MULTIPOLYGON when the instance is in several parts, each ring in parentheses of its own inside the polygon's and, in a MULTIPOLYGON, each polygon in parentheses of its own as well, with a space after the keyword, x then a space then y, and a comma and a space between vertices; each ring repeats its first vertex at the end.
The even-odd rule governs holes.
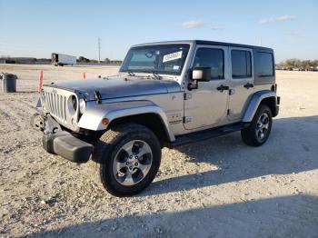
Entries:
POLYGON ((184 99, 184 128, 195 128, 219 124, 226 117, 228 90, 218 91, 228 85, 228 47, 197 45, 191 68, 211 67, 211 80, 198 82, 198 88, 186 91, 184 99))

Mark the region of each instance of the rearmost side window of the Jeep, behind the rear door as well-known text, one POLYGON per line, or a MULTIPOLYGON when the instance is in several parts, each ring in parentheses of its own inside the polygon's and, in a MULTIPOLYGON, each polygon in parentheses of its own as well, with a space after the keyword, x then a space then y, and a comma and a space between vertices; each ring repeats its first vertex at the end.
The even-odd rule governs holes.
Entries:
POLYGON ((255 71, 258 77, 272 77, 273 55, 271 53, 257 52, 255 57, 255 71))

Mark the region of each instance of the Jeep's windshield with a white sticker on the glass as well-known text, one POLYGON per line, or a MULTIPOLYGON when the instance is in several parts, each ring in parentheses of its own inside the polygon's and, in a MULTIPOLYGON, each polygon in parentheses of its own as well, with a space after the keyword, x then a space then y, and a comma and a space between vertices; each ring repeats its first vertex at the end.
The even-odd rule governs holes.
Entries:
POLYGON ((124 58, 120 72, 154 72, 180 75, 189 45, 146 45, 131 48, 124 58))

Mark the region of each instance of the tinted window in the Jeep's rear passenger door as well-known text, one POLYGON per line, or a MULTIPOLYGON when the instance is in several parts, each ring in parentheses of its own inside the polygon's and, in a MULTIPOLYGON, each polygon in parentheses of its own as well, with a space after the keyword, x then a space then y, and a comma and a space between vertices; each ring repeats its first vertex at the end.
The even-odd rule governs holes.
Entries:
POLYGON ((252 77, 251 52, 244 50, 232 50, 232 78, 252 77))

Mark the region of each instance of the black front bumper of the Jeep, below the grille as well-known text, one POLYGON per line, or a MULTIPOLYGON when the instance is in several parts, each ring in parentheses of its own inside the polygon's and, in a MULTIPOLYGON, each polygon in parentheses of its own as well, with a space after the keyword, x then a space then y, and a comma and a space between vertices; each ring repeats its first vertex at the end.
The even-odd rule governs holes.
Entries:
POLYGON ((93 153, 94 146, 72 134, 60 131, 43 135, 43 147, 50 154, 58 154, 75 163, 85 163, 93 153))

